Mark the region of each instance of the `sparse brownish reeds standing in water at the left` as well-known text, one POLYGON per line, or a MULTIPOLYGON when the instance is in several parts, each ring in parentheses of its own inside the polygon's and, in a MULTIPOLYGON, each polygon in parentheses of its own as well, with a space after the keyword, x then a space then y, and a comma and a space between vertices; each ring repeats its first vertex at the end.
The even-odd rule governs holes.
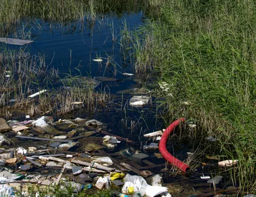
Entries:
POLYGON ((93 79, 68 74, 60 79, 58 70, 46 65, 44 56, 31 56, 22 48, 0 52, 0 65, 0 116, 6 118, 12 116, 13 110, 31 116, 63 115, 82 107, 104 107, 109 101, 108 91, 94 90, 95 84, 90 82, 93 79), (47 92, 40 96, 28 97, 45 89, 47 92))

